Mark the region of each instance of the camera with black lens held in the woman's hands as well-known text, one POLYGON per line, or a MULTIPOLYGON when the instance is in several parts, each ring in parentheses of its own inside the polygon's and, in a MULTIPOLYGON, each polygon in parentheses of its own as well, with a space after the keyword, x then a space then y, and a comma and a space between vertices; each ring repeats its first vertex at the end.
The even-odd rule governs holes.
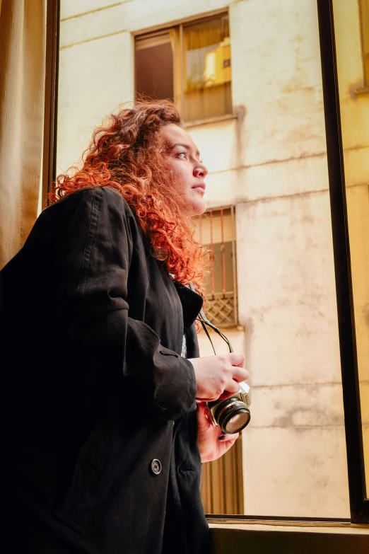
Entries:
POLYGON ((251 393, 250 386, 242 381, 240 390, 225 400, 208 402, 213 425, 219 425, 223 433, 238 433, 250 422, 251 393))

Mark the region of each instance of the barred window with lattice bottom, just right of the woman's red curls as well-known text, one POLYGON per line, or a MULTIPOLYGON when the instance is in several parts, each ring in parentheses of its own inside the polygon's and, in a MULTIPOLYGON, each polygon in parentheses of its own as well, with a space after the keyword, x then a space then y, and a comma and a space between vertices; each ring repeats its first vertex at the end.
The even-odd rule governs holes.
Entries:
POLYGON ((197 240, 209 250, 206 316, 217 327, 238 324, 235 210, 210 209, 199 219, 197 240))

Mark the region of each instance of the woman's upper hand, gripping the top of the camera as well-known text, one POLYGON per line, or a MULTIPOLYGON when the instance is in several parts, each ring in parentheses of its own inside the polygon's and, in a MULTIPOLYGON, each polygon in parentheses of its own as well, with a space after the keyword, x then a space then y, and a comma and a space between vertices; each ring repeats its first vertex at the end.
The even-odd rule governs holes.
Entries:
POLYGON ((231 352, 222 356, 189 359, 194 367, 197 382, 197 400, 218 400, 238 393, 238 383, 249 377, 244 369, 245 357, 231 352))

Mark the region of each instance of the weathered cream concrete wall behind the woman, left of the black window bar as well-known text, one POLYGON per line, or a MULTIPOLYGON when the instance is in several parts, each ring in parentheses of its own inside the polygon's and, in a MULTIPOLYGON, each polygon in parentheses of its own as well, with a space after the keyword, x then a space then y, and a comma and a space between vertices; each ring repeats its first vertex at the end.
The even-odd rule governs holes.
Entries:
MULTIPOLYGON (((132 33, 229 7, 236 117, 188 130, 209 166, 209 207, 236 204, 244 330, 229 334, 254 395, 245 512, 348 517, 315 2, 116 4, 61 3, 58 167, 78 159, 103 115, 132 100, 132 33), (78 16, 88 10, 99 11, 78 16)), ((206 340, 201 352, 211 354, 206 340)))

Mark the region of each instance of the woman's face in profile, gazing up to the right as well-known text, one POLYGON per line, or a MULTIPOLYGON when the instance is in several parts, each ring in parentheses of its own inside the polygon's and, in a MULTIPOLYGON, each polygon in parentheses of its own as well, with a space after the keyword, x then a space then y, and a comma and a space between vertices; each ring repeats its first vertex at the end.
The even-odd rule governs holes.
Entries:
POLYGON ((188 205, 185 215, 192 217, 204 214, 204 179, 208 170, 199 160, 200 154, 196 144, 185 129, 175 123, 168 123, 162 127, 159 134, 165 141, 164 155, 172 173, 172 186, 188 205))

